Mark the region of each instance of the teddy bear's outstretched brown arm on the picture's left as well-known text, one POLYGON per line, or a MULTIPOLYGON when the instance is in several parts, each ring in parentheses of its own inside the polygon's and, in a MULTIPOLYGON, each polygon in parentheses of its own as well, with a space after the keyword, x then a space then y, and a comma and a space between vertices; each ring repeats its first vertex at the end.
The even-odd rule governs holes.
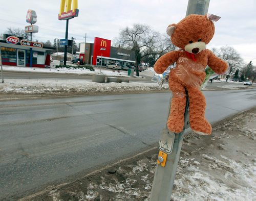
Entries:
POLYGON ((160 57, 154 65, 155 72, 162 74, 170 64, 178 60, 179 54, 178 51, 172 51, 160 57))

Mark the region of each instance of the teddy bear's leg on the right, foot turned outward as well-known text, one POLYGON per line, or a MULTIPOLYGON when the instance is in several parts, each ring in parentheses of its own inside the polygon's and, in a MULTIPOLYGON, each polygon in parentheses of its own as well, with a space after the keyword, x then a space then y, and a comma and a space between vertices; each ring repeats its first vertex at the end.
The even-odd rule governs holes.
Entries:
POLYGON ((205 119, 206 101, 200 89, 187 87, 190 128, 200 135, 210 135, 211 125, 205 119))

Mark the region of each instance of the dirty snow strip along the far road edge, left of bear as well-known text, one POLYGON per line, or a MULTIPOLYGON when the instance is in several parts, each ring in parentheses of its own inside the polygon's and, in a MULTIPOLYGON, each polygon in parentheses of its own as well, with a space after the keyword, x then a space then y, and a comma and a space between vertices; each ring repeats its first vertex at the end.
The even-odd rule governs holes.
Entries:
MULTIPOLYGON (((164 85, 163 90, 168 89, 164 85)), ((0 84, 0 93, 58 94, 58 93, 99 93, 159 90, 157 83, 96 83, 87 80, 13 80, 5 79, 0 84)))

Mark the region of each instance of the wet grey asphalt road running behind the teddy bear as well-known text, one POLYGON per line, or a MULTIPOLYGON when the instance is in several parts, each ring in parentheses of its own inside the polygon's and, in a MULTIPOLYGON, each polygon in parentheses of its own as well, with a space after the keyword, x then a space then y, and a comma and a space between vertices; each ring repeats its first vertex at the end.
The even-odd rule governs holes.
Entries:
MULTIPOLYGON (((210 122, 256 106, 255 89, 204 93, 210 122)), ((25 196, 156 145, 169 97, 151 93, 0 102, 0 199, 25 196)))

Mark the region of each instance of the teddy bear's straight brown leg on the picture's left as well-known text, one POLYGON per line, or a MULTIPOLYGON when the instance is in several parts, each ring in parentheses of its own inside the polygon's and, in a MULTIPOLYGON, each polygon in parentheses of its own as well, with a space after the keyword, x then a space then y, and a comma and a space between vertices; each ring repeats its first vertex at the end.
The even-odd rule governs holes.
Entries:
POLYGON ((169 88, 173 92, 170 114, 167 127, 174 133, 180 133, 184 127, 184 112, 186 107, 186 93, 184 87, 177 81, 169 78, 169 88))

